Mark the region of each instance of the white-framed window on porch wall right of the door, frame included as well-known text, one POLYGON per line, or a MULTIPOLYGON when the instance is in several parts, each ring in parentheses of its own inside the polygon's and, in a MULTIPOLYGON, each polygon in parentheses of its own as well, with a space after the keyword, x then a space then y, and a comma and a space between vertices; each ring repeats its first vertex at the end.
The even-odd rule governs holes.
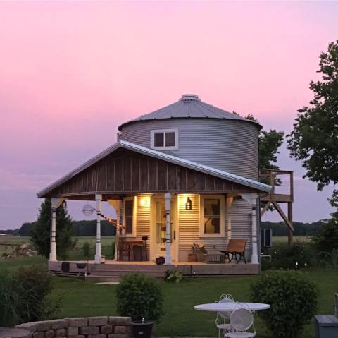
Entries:
POLYGON ((201 195, 200 236, 225 236, 225 199, 222 195, 201 195))

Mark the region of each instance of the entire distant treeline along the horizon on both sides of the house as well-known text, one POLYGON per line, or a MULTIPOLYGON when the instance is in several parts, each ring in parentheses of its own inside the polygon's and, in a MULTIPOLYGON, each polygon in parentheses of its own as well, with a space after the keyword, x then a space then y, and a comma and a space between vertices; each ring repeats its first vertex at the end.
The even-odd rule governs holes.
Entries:
MULTIPOLYGON (((325 221, 313 223, 294 222, 294 236, 311 236, 315 234, 325 221)), ((12 234, 13 236, 30 236, 30 231, 35 222, 24 223, 20 229, 0 230, 0 234, 12 234)), ((262 222, 262 228, 272 228, 273 236, 287 236, 287 226, 284 222, 262 222)), ((73 221, 74 236, 96 236, 96 220, 73 221)), ((116 229, 107 221, 101 221, 101 236, 115 236, 116 229)))

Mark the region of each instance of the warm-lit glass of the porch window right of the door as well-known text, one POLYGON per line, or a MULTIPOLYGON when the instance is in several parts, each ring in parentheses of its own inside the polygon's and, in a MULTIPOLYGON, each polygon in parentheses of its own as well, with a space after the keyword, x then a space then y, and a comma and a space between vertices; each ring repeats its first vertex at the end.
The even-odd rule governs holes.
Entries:
POLYGON ((204 233, 220 234, 220 199, 204 198, 204 233))

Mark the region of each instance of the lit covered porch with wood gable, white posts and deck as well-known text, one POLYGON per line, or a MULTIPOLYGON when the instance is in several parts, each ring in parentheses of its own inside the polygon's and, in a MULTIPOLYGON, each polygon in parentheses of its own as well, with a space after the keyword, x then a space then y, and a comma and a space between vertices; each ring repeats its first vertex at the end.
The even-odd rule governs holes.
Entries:
POLYGON ((56 256, 56 208, 64 200, 83 200, 95 203, 96 253, 86 271, 78 267, 79 262, 68 262, 70 274, 106 279, 108 274, 113 278, 125 272, 162 276, 167 270, 185 275, 258 273, 256 210, 259 196, 268 191, 270 186, 263 183, 120 141, 38 194, 50 198, 52 205, 49 270, 65 270, 56 256), (115 259, 105 262, 101 255, 103 201, 116 212, 118 243, 115 259), (225 250, 232 238, 246 239, 249 264, 188 261, 195 243, 206 251, 225 250), (143 246, 146 259, 126 261, 119 247, 123 241, 143 246), (164 265, 156 265, 161 256, 164 265))

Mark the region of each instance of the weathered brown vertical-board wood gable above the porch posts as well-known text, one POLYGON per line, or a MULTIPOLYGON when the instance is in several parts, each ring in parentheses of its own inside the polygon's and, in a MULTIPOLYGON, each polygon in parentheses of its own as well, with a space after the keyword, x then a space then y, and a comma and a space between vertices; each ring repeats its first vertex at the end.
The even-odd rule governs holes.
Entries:
POLYGON ((94 193, 230 193, 252 188, 225 179, 118 149, 42 196, 84 196, 94 193))

